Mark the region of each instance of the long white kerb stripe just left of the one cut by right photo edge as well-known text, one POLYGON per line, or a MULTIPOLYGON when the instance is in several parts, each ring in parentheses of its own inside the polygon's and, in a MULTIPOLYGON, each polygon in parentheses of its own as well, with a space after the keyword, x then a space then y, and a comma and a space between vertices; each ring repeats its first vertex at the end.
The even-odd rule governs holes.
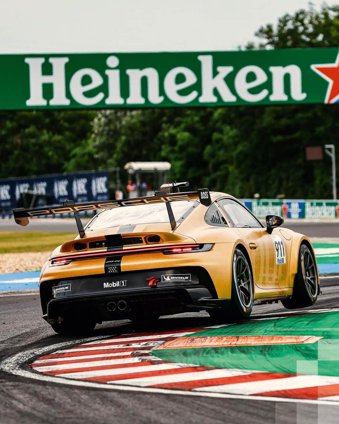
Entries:
POLYGON ((156 384, 179 383, 179 382, 186 382, 186 381, 195 382, 198 380, 207 380, 210 378, 236 377, 239 375, 252 374, 253 372, 259 372, 259 371, 218 368, 215 370, 194 371, 194 372, 187 372, 182 374, 159 375, 154 377, 141 377, 141 378, 117 380, 117 381, 112 381, 112 383, 146 387, 146 386, 153 386, 156 384))

